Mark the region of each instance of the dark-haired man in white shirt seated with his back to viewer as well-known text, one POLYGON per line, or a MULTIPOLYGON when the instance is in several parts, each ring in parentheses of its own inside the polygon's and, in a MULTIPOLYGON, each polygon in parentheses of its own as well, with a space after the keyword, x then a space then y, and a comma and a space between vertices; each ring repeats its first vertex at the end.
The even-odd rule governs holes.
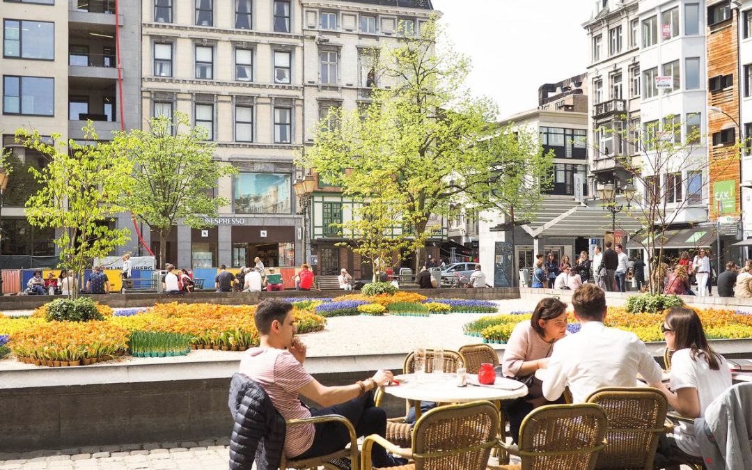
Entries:
POLYGON ((572 307, 582 328, 553 344, 543 395, 553 402, 569 386, 575 403, 601 387, 635 387, 637 373, 652 387, 661 387, 661 370, 634 333, 606 328, 605 293, 583 284, 572 295, 572 307))

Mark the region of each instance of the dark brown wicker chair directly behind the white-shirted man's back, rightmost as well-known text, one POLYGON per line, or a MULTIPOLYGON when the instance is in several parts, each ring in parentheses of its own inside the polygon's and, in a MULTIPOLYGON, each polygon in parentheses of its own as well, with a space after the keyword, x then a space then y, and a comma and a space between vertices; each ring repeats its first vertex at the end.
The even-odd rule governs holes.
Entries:
POLYGON ((658 439, 669 430, 663 393, 647 387, 605 387, 591 393, 587 402, 601 405, 608 416, 608 444, 596 468, 652 470, 658 439))

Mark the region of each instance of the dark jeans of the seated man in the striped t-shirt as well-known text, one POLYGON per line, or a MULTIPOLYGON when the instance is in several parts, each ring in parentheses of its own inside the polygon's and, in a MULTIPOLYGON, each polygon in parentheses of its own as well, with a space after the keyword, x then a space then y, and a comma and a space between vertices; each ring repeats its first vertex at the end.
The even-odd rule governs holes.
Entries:
MULTIPOLYGON (((355 434, 358 437, 371 434, 378 434, 383 438, 387 437, 387 412, 376 406, 372 390, 349 402, 329 408, 311 408, 311 416, 322 416, 323 414, 341 414, 346 417, 350 423, 353 423, 355 434)), ((314 426, 316 427, 314 443, 295 459, 309 459, 334 453, 344 449, 350 443, 350 433, 341 423, 317 423, 314 426)), ((374 467, 388 467, 392 465, 393 460, 387 456, 387 450, 384 447, 374 444, 371 462, 374 467)))

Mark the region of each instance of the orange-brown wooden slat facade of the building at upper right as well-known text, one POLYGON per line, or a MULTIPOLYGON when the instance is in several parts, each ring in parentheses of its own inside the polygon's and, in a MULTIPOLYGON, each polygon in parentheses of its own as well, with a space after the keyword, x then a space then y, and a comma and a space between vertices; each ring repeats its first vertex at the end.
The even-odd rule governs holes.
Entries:
MULTIPOLYGON (((706 21, 709 23, 707 12, 712 5, 716 5, 723 2, 706 3, 706 21)), ((739 122, 739 92, 741 87, 741 80, 739 77, 738 68, 738 10, 731 9, 732 19, 726 20, 723 23, 706 26, 706 38, 707 38, 707 53, 708 53, 708 80, 718 75, 733 75, 733 86, 727 89, 723 89, 719 92, 710 92, 710 85, 708 83, 708 106, 716 106, 722 109, 733 117, 736 122, 739 122)), ((726 146, 714 146, 713 134, 720 132, 723 129, 735 129, 735 141, 741 137, 738 132, 739 129, 736 124, 721 113, 708 112, 708 153, 710 156, 709 166, 709 185, 708 185, 708 202, 710 205, 711 220, 717 219, 717 204, 713 197, 713 183, 724 180, 736 181, 736 208, 734 214, 723 214, 731 216, 739 216, 741 208, 741 190, 739 185, 741 183, 741 166, 738 155, 738 149, 731 145, 726 146)))

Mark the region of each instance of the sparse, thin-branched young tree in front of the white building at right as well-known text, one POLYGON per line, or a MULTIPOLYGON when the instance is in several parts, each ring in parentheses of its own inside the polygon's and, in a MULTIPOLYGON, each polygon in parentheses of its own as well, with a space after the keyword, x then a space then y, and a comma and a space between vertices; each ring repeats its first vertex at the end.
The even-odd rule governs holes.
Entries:
MULTIPOLYGON (((644 128, 627 125, 626 116, 621 121, 621 126, 596 129, 596 135, 612 142, 614 151, 606 153, 605 147, 597 145, 594 150, 600 158, 612 159, 616 168, 623 169, 637 190, 626 208, 626 214, 642 226, 632 241, 648 254, 650 293, 660 293, 663 277, 668 274, 666 267, 672 264, 664 253, 667 232, 680 223, 691 206, 703 204, 703 195, 711 198, 709 174, 727 171, 738 160, 741 144, 729 145, 723 158, 711 160, 702 147, 699 121, 684 123, 669 115, 662 124, 653 121, 644 123, 644 128), (686 129, 684 140, 682 129, 686 129)), ((711 213, 716 211, 707 201, 704 205, 710 206, 711 213)))

